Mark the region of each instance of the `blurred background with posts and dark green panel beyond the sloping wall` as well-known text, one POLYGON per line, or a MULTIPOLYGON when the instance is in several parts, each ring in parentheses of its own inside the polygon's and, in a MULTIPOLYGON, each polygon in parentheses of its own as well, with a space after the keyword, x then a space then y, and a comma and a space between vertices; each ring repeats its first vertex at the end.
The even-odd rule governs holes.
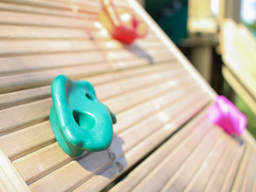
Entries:
MULTIPOLYGON (((221 50, 221 34, 226 18, 232 19, 234 23, 242 23, 256 38, 256 0, 138 1, 213 89, 219 95, 227 96, 247 116, 247 129, 256 137, 256 110, 251 110, 250 102, 241 99, 223 77, 221 57, 224 54, 221 50)), ((254 53, 256 55, 256 51, 251 54, 254 53)), ((252 60, 250 65, 256 66, 256 61, 252 60)), ((256 77, 256 71, 252 73, 256 77)))

